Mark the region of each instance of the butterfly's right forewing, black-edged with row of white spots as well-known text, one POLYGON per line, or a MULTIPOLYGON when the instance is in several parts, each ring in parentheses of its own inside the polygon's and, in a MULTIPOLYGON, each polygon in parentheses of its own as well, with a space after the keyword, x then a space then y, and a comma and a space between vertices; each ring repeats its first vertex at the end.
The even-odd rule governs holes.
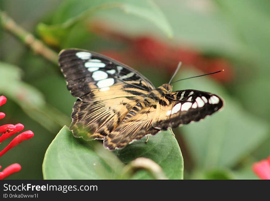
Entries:
POLYGON ((175 128, 199 121, 222 106, 222 99, 212 93, 192 89, 173 91, 159 100, 152 126, 161 130, 175 128))

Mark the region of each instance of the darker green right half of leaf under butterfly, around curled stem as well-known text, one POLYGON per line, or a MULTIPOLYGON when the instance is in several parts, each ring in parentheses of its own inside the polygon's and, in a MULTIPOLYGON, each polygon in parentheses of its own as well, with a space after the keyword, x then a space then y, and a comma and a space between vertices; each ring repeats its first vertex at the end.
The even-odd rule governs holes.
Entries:
MULTIPOLYGON (((183 179, 183 156, 172 132, 168 130, 159 132, 155 136, 149 136, 147 144, 145 144, 145 140, 146 137, 117 151, 116 154, 124 163, 138 157, 150 158, 161 166, 169 179, 183 179)), ((146 172, 140 172, 133 178, 150 179, 146 172)))

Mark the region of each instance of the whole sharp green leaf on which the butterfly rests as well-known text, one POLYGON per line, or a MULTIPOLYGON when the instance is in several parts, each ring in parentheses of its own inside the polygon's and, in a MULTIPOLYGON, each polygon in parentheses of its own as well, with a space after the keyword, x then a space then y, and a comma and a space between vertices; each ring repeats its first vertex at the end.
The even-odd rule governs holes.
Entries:
MULTIPOLYGON (((87 143, 75 138, 64 126, 48 147, 43 161, 44 179, 118 179, 124 163, 135 158, 150 158, 160 165, 169 179, 183 178, 183 157, 178 143, 172 133, 160 132, 149 138, 130 144, 121 151, 110 152, 96 140, 87 143), (122 163, 119 159, 122 160, 122 163)), ((122 175, 123 176, 123 175, 122 175)), ((152 178, 143 170, 131 178, 152 178)))

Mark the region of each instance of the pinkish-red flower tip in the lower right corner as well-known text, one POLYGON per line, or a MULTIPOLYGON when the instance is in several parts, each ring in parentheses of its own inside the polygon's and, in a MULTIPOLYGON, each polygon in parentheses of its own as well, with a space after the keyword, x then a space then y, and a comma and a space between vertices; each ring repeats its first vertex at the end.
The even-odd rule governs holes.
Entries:
POLYGON ((268 159, 256 162, 252 166, 253 172, 257 174, 260 179, 270 180, 270 156, 268 159))

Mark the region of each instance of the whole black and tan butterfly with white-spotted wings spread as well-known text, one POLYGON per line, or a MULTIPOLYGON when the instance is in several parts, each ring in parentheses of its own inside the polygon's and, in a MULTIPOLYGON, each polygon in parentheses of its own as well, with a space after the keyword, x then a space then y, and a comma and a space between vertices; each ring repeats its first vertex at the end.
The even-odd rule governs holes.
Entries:
POLYGON ((205 91, 155 88, 141 73, 95 52, 62 50, 59 65, 67 89, 78 98, 69 130, 84 140, 103 140, 109 150, 199 121, 223 106, 218 95, 205 91))

